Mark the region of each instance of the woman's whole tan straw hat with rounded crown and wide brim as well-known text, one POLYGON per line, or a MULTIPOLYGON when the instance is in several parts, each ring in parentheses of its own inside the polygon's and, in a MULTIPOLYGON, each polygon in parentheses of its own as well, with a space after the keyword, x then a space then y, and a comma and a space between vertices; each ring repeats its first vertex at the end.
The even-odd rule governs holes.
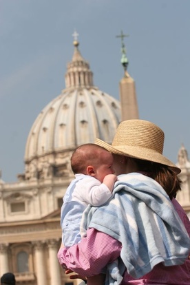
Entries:
POLYGON ((113 154, 149 160, 173 167, 173 170, 178 174, 181 170, 162 155, 164 140, 164 132, 154 123, 147 120, 125 120, 118 125, 112 145, 98 138, 96 138, 95 144, 104 147, 113 154))

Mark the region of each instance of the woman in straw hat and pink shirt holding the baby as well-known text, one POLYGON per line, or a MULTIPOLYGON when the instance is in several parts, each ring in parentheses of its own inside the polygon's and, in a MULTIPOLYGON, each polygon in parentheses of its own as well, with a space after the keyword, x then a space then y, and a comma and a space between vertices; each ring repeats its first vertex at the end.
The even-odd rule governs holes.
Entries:
POLYGON ((87 277, 107 266, 107 284, 189 285, 190 223, 174 198, 180 169, 162 155, 163 131, 127 120, 112 145, 95 143, 114 154, 114 199, 88 209, 86 237, 60 249, 60 264, 87 277))

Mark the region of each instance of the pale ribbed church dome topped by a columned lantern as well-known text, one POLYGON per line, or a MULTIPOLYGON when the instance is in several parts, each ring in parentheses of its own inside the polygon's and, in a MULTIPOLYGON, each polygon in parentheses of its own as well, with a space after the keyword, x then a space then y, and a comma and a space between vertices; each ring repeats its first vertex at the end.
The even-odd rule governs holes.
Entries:
MULTIPOLYGON (((120 123, 120 103, 93 85, 89 63, 74 41, 74 55, 67 64, 65 89, 41 111, 34 121, 25 147, 26 168, 39 158, 52 164, 55 157, 79 145, 101 138, 111 143, 120 123)), ((64 156, 65 157, 65 156, 64 156)))

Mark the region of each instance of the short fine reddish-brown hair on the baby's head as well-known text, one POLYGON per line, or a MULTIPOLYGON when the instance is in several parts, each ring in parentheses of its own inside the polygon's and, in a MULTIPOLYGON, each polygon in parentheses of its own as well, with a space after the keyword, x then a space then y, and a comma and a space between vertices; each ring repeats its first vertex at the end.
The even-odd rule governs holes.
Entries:
POLYGON ((71 157, 71 167, 74 174, 86 174, 88 165, 95 165, 101 158, 101 152, 107 151, 94 143, 87 143, 77 147, 71 157))

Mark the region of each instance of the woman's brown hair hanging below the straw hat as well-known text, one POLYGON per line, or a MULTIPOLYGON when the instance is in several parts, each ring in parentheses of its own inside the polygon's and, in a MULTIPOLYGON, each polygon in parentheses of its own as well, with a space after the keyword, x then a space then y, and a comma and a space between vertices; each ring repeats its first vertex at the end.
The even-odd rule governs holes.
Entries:
POLYGON ((140 160, 138 158, 131 159, 136 162, 139 171, 145 172, 145 175, 156 180, 156 182, 165 189, 170 199, 176 197, 176 193, 181 190, 182 180, 178 178, 172 167, 148 160, 140 160))

